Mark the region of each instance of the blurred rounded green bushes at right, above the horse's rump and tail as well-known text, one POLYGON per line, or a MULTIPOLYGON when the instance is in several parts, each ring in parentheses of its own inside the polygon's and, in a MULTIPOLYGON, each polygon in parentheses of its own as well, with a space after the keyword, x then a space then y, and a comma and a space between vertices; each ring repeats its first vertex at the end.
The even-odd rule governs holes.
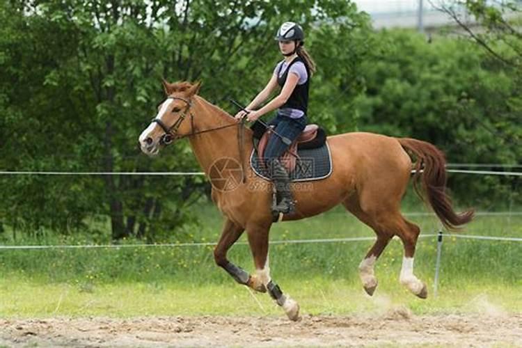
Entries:
MULTIPOLYGON (((362 65, 366 90, 355 100, 359 129, 429 141, 453 163, 518 163, 520 113, 507 101, 521 100, 520 86, 510 70, 468 40, 436 36, 427 42, 400 30, 375 35, 382 53, 362 65)), ((505 177, 470 184, 464 175, 450 183, 461 200, 484 207, 516 185, 516 178, 505 177)))

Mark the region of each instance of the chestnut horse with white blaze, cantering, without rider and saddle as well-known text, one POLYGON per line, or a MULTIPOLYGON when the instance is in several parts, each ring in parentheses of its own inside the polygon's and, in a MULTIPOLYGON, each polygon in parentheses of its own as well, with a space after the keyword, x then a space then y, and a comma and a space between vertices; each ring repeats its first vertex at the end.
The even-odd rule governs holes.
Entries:
MULTIPOLYGON (((299 304, 283 293, 270 276, 269 230, 271 183, 253 173, 248 154, 253 132, 218 106, 198 95, 200 82, 162 81, 166 99, 157 116, 139 136, 141 150, 150 156, 175 141, 188 138, 205 175, 212 184, 212 200, 224 217, 223 230, 214 248, 214 260, 237 283, 268 292, 291 320, 299 319, 299 304), (230 262, 228 249, 246 231, 255 274, 230 262)), ((370 296, 377 287, 374 266, 392 237, 404 246, 400 283, 427 298, 427 286, 413 274, 413 258, 420 228, 406 220, 400 202, 414 169, 414 187, 427 201, 443 226, 458 230, 473 219, 473 209, 454 212, 445 192, 445 156, 425 141, 366 132, 328 136, 333 171, 322 180, 307 182, 294 191, 296 211, 283 221, 304 219, 342 204, 377 235, 358 266, 363 288, 370 296), (413 166, 413 159, 416 164, 413 166)), ((293 184, 292 184, 293 185, 293 184)))

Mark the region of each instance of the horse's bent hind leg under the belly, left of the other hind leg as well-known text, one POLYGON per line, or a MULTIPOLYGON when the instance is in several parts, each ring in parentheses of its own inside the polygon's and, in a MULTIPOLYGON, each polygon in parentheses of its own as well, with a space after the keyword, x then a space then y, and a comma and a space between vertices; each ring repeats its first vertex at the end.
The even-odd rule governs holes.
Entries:
POLYGON ((343 205, 345 205, 346 209, 348 209, 351 214, 354 214, 357 219, 373 228, 377 235, 377 241, 375 241, 372 248, 370 248, 370 251, 367 252, 365 258, 361 261, 361 264, 359 264, 359 277, 363 283, 364 290, 367 294, 372 296, 375 288, 377 288, 377 278, 374 274, 375 262, 377 262, 377 259, 383 252, 384 248, 386 248, 393 235, 388 233, 386 230, 379 228, 374 219, 363 212, 356 197, 352 196, 351 198, 348 198, 345 200, 343 205))

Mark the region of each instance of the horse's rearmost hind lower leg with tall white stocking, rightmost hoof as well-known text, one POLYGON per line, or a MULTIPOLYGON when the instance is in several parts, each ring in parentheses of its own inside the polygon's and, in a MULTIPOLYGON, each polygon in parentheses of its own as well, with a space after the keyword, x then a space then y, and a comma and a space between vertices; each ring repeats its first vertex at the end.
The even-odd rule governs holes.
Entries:
POLYGON ((397 219, 400 221, 400 232, 397 233, 397 235, 404 245, 400 282, 416 296, 421 299, 426 299, 428 296, 426 284, 422 283, 422 281, 413 274, 413 255, 415 254, 420 228, 402 216, 399 216, 397 219))

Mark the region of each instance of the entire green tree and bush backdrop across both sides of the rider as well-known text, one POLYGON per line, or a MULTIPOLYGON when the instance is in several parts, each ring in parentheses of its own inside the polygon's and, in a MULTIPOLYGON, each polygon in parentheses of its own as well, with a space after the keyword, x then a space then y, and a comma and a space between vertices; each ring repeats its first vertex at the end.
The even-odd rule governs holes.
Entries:
MULTIPOLYGON (((233 113, 227 97, 246 102, 266 84, 280 60, 274 32, 289 18, 303 25, 318 66, 310 119, 331 134, 410 136, 451 162, 517 164, 522 156, 520 36, 483 1, 466 4, 487 27, 477 38, 489 50, 372 31, 344 0, 113 3, 0 0, 2 169, 193 171, 186 141, 155 159, 136 146, 164 97, 160 79, 200 79, 201 94, 233 113)), ((506 193, 521 199, 512 178, 450 177, 450 187, 475 206, 493 207, 506 193)), ((86 221, 109 217, 112 239, 190 239, 189 208, 207 189, 203 177, 3 175, 0 227, 97 233, 86 221)))

